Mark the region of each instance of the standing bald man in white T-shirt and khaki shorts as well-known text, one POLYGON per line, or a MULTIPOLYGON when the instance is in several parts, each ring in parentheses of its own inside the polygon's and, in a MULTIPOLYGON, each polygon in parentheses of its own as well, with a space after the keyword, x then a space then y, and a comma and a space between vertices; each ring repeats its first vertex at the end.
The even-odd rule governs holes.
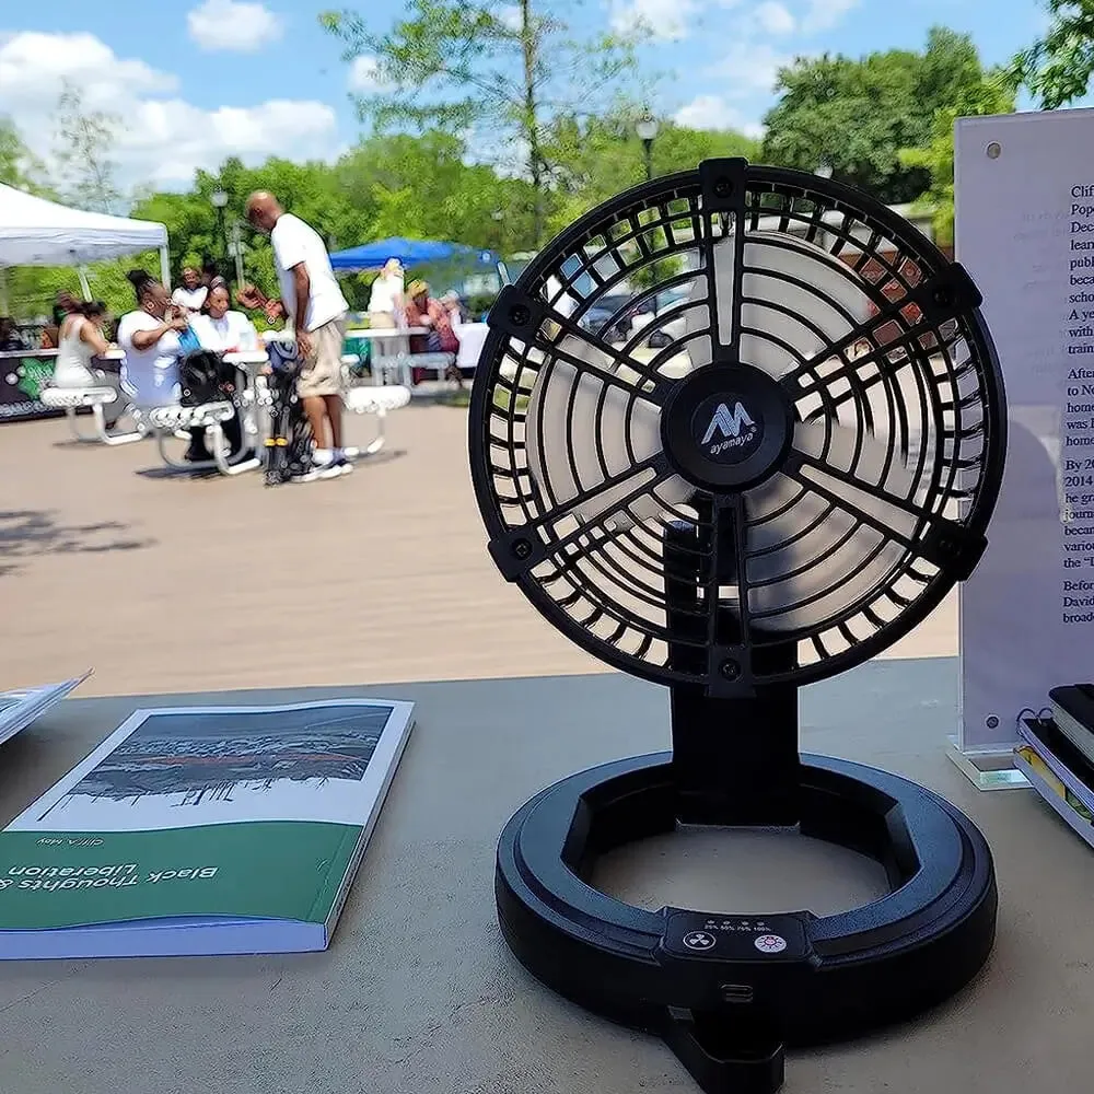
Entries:
POLYGON ((265 309, 270 322, 292 323, 304 362, 296 391, 315 438, 315 462, 327 473, 352 470, 341 430, 341 350, 349 304, 330 268, 326 244, 265 190, 247 199, 247 220, 270 234, 281 299, 266 300, 252 286, 241 289, 238 299, 248 307, 265 309))

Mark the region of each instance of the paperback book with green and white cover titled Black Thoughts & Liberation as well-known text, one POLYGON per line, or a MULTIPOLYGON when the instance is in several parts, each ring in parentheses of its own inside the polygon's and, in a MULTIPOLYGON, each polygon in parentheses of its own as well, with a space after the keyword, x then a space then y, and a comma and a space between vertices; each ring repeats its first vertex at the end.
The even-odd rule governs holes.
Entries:
POLYGON ((0 833, 0 958, 325 950, 412 717, 136 711, 0 833))

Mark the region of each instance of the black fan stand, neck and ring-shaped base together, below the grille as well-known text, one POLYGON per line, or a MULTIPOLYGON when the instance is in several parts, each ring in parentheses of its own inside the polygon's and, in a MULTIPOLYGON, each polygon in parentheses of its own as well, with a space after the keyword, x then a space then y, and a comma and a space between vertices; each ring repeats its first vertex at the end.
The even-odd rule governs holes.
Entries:
MULTIPOLYGON (((665 573, 673 667, 701 677, 710 645, 695 567, 709 554, 698 535, 666 531, 665 573)), ((729 613, 718 622, 732 639, 729 613)), ((779 645, 750 652, 772 671, 781 665, 769 659, 793 656, 779 645)), ((732 659, 722 665, 735 675, 732 659)), ((968 818, 896 776, 801 756, 798 733, 793 686, 740 697, 677 686, 672 753, 563 779, 498 845, 499 922, 521 963, 589 1010, 660 1035, 707 1094, 771 1094, 784 1045, 858 1036, 936 1004, 980 968, 994 938, 991 854, 968 818), (796 826, 878 860, 893 892, 826 918, 738 916, 648 911, 587 881, 600 856, 680 824, 796 826)))

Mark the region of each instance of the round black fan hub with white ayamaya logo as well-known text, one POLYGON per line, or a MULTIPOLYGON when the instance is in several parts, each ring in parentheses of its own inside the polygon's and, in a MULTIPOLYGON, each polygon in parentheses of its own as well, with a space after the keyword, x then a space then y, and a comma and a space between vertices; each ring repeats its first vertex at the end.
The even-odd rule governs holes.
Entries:
POLYGON ((670 462, 706 490, 744 490, 775 474, 793 430, 794 408, 778 381, 734 362, 685 376, 661 417, 670 462))

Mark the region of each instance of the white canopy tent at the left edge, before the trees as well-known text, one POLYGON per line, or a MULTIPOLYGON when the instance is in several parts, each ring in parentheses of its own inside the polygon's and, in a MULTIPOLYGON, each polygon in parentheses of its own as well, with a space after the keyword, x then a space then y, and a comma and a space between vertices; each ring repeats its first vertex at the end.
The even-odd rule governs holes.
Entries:
MULTIPOLYGON (((160 252, 161 278, 170 287, 167 230, 163 224, 83 212, 0 184, 0 268, 82 267, 141 251, 160 252)), ((82 271, 81 281, 85 284, 82 271)))

